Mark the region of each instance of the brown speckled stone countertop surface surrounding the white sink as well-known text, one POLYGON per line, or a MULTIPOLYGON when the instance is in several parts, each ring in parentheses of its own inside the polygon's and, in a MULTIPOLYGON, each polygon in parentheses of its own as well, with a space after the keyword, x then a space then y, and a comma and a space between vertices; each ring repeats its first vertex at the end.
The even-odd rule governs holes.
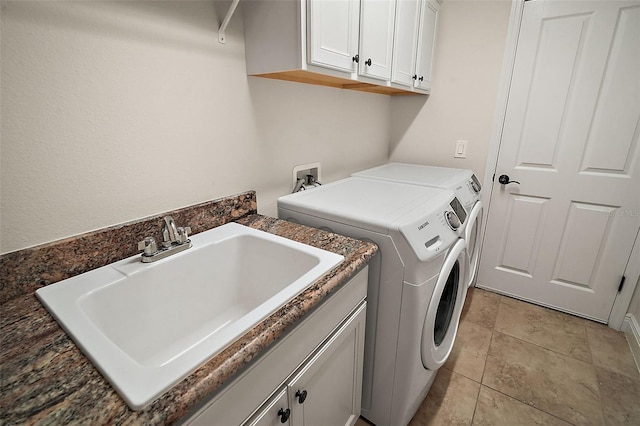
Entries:
POLYGON ((377 251, 372 243, 257 214, 237 222, 342 254, 345 261, 139 412, 125 404, 32 290, 4 300, 0 424, 174 423, 347 282, 377 251))

